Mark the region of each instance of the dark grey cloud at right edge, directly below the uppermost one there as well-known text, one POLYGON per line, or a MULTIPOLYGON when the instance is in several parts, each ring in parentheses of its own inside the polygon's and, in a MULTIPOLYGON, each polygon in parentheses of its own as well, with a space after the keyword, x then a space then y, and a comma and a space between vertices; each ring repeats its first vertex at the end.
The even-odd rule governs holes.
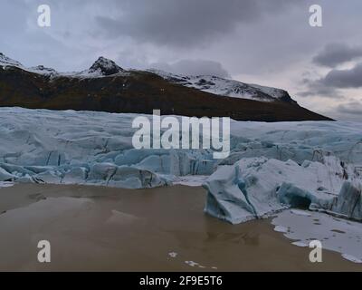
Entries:
POLYGON ((350 70, 332 70, 320 82, 335 88, 362 87, 362 63, 350 70))

